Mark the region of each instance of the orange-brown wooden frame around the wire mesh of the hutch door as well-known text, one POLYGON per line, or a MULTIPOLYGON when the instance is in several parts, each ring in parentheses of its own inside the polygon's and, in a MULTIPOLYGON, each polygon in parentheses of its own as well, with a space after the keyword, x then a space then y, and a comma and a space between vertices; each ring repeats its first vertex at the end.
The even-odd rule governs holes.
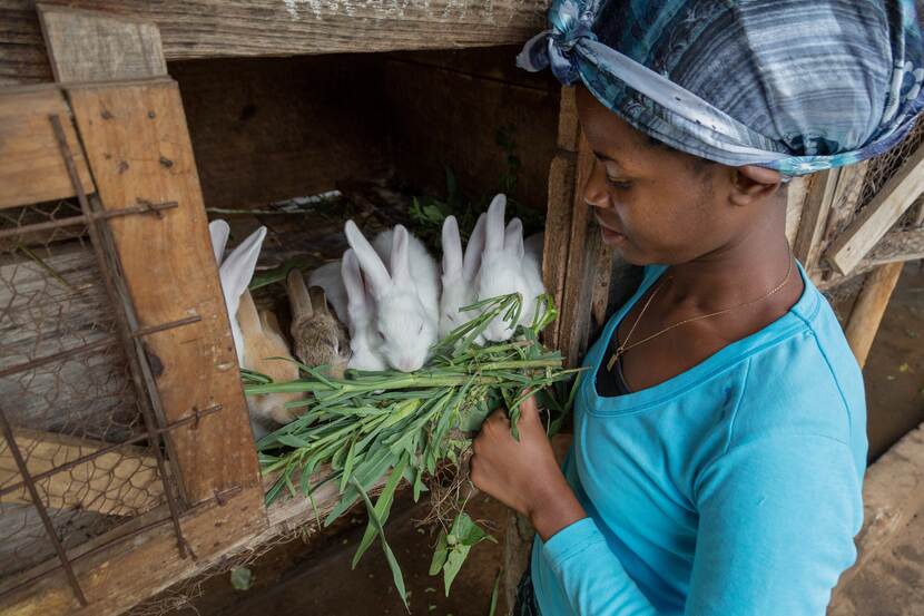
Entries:
MULTIPOLYGON (((178 511, 174 526, 159 524, 164 511, 151 510, 69 550, 80 597, 58 571, 17 587, 0 612, 120 614, 207 569, 268 522, 183 104, 166 76, 157 28, 61 7, 39 7, 39 16, 58 85, 38 94, 0 91, 0 111, 4 105, 22 111, 30 100, 58 105, 83 190, 95 192, 91 201, 107 217, 106 247, 127 297, 131 336, 142 341, 178 511), (170 206, 107 216, 157 204, 170 206)), ((46 158, 38 159, 45 167, 8 166, 4 174, 16 172, 29 185, 46 169, 62 184, 58 163, 46 158)), ((13 203, 11 195, 3 199, 13 203)))

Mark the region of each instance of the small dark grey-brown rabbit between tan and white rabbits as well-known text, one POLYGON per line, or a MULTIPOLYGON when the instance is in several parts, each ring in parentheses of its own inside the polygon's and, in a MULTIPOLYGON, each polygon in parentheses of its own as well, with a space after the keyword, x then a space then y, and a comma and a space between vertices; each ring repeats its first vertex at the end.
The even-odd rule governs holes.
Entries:
POLYGON ((327 297, 320 286, 305 286, 298 270, 286 276, 286 291, 292 305, 292 339, 295 355, 309 366, 328 365, 331 374, 343 377, 350 355, 346 330, 327 307, 327 297))

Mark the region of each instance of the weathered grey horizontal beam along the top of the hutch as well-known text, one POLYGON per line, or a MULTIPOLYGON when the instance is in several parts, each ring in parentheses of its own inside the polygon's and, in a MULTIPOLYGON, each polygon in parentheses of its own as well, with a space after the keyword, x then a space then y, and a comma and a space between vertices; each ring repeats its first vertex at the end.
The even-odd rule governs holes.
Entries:
MULTIPOLYGON (((167 60, 522 45, 544 27, 544 0, 63 0, 156 23, 167 60)), ((0 82, 40 82, 36 0, 2 0, 0 82)), ((511 59, 512 61, 512 59, 511 59)))

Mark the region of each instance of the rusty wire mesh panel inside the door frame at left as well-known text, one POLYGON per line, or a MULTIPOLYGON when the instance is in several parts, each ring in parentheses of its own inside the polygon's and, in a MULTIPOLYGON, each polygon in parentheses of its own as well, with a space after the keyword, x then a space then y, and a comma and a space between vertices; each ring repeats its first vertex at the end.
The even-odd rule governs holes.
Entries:
POLYGON ((0 439, 0 585, 52 558, 55 539, 75 548, 166 500, 79 216, 73 201, 0 209, 0 410, 55 532, 0 439))

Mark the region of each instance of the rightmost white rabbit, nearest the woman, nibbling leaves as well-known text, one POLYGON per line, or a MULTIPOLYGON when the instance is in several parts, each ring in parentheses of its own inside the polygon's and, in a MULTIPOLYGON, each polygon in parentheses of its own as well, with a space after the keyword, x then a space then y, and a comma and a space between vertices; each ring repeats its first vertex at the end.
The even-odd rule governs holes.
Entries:
MULTIPOLYGON (((484 338, 492 342, 510 340, 517 325, 529 324, 535 314, 535 299, 544 293, 542 285, 541 254, 525 255, 523 224, 513 218, 504 228, 507 197, 494 197, 488 208, 484 227, 484 252, 479 270, 478 297, 486 300, 499 295, 519 293, 522 297, 520 319, 509 323, 498 316, 484 330, 484 338)), ((534 243, 534 242, 533 242, 534 243)))

